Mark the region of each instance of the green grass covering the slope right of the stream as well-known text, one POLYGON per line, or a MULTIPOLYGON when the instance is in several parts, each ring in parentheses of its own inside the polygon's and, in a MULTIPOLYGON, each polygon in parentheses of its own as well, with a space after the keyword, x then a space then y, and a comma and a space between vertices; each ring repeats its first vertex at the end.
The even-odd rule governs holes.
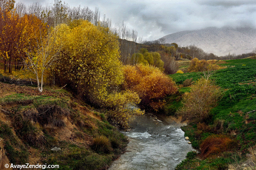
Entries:
MULTIPOLYGON (((241 153, 243 160, 248 149, 256 145, 256 112, 253 111, 256 110, 256 60, 247 58, 219 63, 226 68, 215 71, 210 79, 214 80, 224 93, 218 106, 211 110, 211 116, 205 122, 207 128, 200 129, 199 126, 191 124, 182 127, 182 130, 196 149, 215 134, 224 134, 237 144, 231 151, 226 151, 219 157, 209 156, 203 160, 197 157, 187 158, 176 169, 227 169, 228 164, 236 161, 232 157, 234 153, 241 153)), ((170 77, 181 85, 186 79, 193 78, 193 81, 196 81, 202 75, 202 72, 189 72, 170 77)), ((188 91, 189 87, 180 89, 182 92, 186 90, 188 91)))

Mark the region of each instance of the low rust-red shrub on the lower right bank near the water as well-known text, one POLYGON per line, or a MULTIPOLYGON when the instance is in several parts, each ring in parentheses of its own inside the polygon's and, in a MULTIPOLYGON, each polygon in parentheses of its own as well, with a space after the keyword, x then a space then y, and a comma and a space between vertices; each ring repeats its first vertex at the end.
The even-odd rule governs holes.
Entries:
POLYGON ((200 145, 200 157, 205 159, 212 155, 218 155, 222 152, 232 149, 234 141, 224 135, 211 135, 207 137, 200 145))

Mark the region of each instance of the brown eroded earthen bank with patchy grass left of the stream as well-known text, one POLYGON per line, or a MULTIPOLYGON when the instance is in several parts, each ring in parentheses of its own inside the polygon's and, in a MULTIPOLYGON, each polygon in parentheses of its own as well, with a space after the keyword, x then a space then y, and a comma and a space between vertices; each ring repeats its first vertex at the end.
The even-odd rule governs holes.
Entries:
POLYGON ((39 93, 0 82, 0 98, 0 169, 6 163, 105 169, 126 146, 104 114, 61 88, 39 93))

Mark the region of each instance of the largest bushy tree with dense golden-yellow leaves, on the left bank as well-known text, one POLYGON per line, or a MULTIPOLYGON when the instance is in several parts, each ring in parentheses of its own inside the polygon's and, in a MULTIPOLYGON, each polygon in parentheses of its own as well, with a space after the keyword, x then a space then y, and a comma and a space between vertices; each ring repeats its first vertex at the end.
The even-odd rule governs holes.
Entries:
POLYGON ((79 96, 101 105, 109 90, 123 81, 118 39, 108 28, 74 22, 58 27, 58 41, 63 44, 54 68, 56 77, 79 96))

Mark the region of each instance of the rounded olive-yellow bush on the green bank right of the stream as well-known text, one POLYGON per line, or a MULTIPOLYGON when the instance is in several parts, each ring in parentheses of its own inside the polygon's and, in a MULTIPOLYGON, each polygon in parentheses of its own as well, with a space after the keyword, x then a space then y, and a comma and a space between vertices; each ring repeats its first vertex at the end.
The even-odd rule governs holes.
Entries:
POLYGON ((220 87, 214 85, 211 80, 201 78, 191 85, 190 92, 184 94, 183 107, 179 114, 190 120, 204 120, 208 118, 210 110, 217 106, 220 96, 220 87))

